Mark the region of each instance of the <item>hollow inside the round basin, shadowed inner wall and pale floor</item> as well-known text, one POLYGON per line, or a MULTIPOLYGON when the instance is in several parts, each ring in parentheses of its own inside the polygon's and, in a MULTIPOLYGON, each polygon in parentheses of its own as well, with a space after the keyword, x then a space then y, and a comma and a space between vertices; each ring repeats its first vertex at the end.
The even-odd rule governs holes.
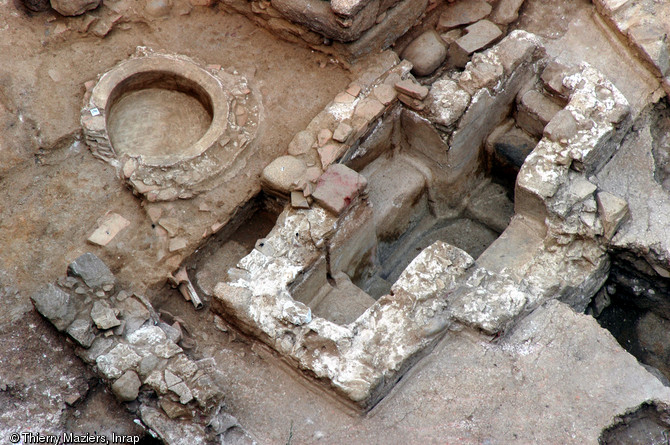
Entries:
POLYGON ((107 129, 119 154, 178 154, 212 123, 209 94, 197 83, 167 71, 146 71, 120 82, 110 94, 107 129))

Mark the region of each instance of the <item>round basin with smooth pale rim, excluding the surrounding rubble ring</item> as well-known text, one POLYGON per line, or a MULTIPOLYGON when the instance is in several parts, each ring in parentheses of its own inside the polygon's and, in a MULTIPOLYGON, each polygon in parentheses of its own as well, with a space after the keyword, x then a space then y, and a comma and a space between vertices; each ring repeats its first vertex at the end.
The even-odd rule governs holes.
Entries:
POLYGON ((152 55, 106 73, 91 103, 105 116, 114 153, 147 166, 172 166, 200 156, 227 129, 229 94, 195 63, 152 55))

